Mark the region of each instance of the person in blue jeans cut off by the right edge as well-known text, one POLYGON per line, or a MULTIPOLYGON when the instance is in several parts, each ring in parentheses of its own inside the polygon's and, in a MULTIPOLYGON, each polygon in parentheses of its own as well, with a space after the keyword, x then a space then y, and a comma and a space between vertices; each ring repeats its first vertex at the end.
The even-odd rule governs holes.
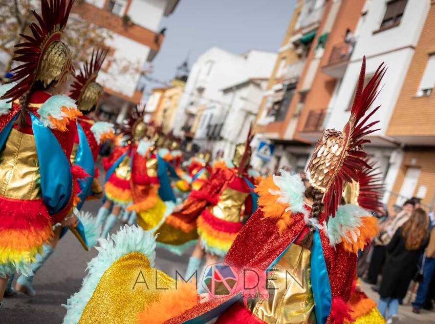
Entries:
POLYGON ((430 239, 429 245, 426 249, 426 253, 423 255, 422 270, 423 270, 423 280, 418 285, 417 296, 413 303, 413 312, 420 313, 420 309, 426 301, 428 296, 429 287, 431 280, 435 272, 435 206, 432 208, 432 212, 429 214, 429 229, 430 229, 430 239))

